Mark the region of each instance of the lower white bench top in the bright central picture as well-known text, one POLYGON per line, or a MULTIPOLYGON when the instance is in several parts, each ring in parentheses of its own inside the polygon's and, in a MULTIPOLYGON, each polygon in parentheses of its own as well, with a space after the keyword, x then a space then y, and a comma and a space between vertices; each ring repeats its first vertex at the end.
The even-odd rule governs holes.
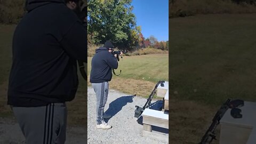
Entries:
POLYGON ((169 115, 164 114, 163 111, 158 111, 158 110, 154 110, 154 109, 149 109, 146 108, 143 113, 142 113, 143 117, 150 117, 150 118, 155 118, 155 119, 159 119, 161 121, 169 121, 169 115))

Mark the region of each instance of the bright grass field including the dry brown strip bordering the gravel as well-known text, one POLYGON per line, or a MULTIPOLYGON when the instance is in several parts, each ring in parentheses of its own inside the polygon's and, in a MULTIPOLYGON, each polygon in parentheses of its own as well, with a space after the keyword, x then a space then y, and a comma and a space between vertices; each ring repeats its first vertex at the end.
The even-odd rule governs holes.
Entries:
MULTIPOLYGON (((92 57, 88 57, 87 72, 90 76, 92 57)), ((110 89, 119 90, 127 94, 137 94, 148 98, 158 81, 169 81, 169 55, 168 54, 146 54, 124 56, 118 62, 116 74, 110 81, 110 89)), ((87 85, 91 85, 91 83, 87 85)), ((156 96, 156 95, 155 95, 156 96)), ((156 97, 154 97, 156 98, 156 97)))

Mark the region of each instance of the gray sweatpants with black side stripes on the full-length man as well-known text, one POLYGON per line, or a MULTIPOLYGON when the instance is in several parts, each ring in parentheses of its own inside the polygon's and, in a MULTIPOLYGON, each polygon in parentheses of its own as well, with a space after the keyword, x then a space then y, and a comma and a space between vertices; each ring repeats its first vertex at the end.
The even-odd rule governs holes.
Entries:
POLYGON ((96 99, 97 99, 96 121, 97 121, 97 124, 101 124, 101 122, 103 121, 104 107, 108 99, 108 82, 92 83, 92 87, 94 92, 96 93, 96 99))

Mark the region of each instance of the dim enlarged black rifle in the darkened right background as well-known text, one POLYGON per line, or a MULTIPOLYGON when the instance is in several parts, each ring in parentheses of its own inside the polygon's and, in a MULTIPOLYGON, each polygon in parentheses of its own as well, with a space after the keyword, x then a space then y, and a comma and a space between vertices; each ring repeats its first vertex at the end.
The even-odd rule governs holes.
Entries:
POLYGON ((218 124, 220 123, 220 119, 223 117, 223 115, 226 113, 226 111, 231 108, 230 114, 234 118, 242 118, 241 109, 238 109, 237 107, 244 106, 243 100, 233 100, 230 101, 230 99, 227 99, 225 103, 222 104, 220 109, 217 111, 215 116, 212 119, 212 124, 208 128, 208 130, 205 132, 203 138, 201 139, 201 142, 199 144, 207 144, 211 143, 213 140, 216 140, 216 134, 215 129, 217 128, 218 124))

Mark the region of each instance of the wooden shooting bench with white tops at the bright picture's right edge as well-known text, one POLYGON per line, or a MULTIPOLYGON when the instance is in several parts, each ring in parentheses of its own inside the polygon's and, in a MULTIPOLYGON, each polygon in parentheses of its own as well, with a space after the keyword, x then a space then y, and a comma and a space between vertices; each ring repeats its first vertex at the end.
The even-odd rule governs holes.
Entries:
POLYGON ((143 137, 149 137, 158 141, 168 143, 169 129, 169 83, 165 81, 164 86, 158 85, 157 97, 163 98, 162 111, 146 108, 143 113, 143 137), (153 130, 153 127, 156 128, 153 130), (158 127, 158 130, 157 130, 158 127), (162 129, 162 130, 161 130, 162 129))

